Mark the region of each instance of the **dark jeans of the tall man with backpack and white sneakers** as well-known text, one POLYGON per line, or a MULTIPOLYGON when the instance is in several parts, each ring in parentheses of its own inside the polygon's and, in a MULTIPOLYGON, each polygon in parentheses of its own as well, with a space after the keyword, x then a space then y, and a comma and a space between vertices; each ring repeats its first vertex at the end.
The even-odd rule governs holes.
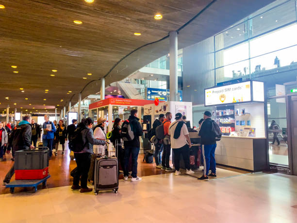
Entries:
POLYGON ((124 176, 129 176, 129 157, 132 154, 132 177, 137 177, 137 159, 140 148, 138 147, 125 147, 125 167, 124 167, 124 176))

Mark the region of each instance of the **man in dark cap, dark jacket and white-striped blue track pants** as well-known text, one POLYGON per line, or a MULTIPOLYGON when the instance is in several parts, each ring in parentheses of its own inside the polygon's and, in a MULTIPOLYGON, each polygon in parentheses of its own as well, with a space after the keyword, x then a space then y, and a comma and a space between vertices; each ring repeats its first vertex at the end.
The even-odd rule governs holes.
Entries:
POLYGON ((203 155, 204 171, 203 175, 198 178, 199 180, 207 180, 208 177, 216 177, 215 174, 215 158, 214 152, 216 148, 216 142, 214 134, 212 132, 213 120, 211 119, 212 113, 206 111, 203 113, 204 121, 201 124, 199 136, 201 136, 201 146, 203 155), (211 169, 211 173, 209 170, 211 169))

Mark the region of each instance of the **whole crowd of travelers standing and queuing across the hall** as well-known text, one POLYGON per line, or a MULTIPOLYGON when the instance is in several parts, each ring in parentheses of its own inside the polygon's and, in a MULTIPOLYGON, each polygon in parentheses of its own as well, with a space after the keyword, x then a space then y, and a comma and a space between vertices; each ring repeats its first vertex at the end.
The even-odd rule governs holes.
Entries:
MULTIPOLYGON (((199 127, 196 130, 201 137, 201 161, 203 163, 203 174, 199 180, 206 180, 209 177, 216 177, 214 151, 216 141, 213 137, 213 120, 211 113, 206 111, 203 119, 199 121, 199 127), (211 173, 209 173, 211 170, 211 173)), ((41 137, 42 146, 49 148, 49 159, 52 153, 57 155, 59 144, 62 145, 62 155, 65 154, 65 142, 69 140, 69 149, 73 148, 73 143, 80 136, 79 141, 75 141, 80 146, 80 150, 74 150, 74 157, 77 164, 76 171, 73 173, 73 185, 71 189, 80 189, 80 192, 89 192, 92 189, 87 187, 88 173, 91 168, 91 161, 94 154, 108 156, 107 144, 108 139, 116 149, 118 163, 123 169, 123 180, 127 181, 131 173, 131 181, 141 181, 142 178, 137 175, 137 159, 140 152, 140 137, 144 131, 139 122, 137 109, 132 109, 128 120, 122 121, 116 118, 113 124, 113 130, 108 136, 106 134, 106 120, 100 117, 97 125, 94 126, 92 118, 72 120, 72 124, 66 125, 63 120, 57 124, 56 121, 51 122, 49 116, 44 116, 44 123, 39 126, 30 116, 24 116, 22 121, 16 126, 12 123, 0 123, 0 161, 3 155, 10 154, 12 151, 13 158, 16 151, 34 149, 37 139, 41 137), (80 135, 78 135, 80 134, 80 135), (33 144, 33 145, 32 145, 33 144), (79 152, 77 152, 79 151, 79 152), (131 162, 132 172, 129 172, 129 162, 131 162)), ((190 168, 190 148, 192 147, 188 128, 186 125, 186 117, 181 113, 175 114, 175 121, 172 121, 172 114, 167 112, 165 115, 160 114, 150 130, 151 141, 154 143, 154 158, 156 168, 165 172, 175 172, 180 175, 180 159, 181 155, 186 169, 186 174, 195 173, 190 168), (159 137, 161 135, 161 137, 159 137), (170 166, 169 158, 173 151, 173 164, 175 169, 170 166)), ((72 152, 73 152, 72 151, 72 152)), ((93 164, 92 164, 93 165, 93 164)), ((14 174, 14 165, 6 174, 3 185, 10 182, 14 174)), ((119 174, 119 172, 118 172, 119 174)))

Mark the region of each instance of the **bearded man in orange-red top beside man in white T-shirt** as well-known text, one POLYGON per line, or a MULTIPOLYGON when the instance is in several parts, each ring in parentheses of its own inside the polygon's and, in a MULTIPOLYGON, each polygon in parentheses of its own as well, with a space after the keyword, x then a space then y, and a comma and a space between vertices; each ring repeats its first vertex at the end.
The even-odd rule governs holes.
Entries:
MULTIPOLYGON (((172 114, 170 112, 167 112, 165 114, 166 119, 163 121, 163 127, 164 127, 164 136, 169 137, 169 126, 171 124, 172 114)), ((165 144, 163 140, 163 154, 162 154, 162 168, 161 170, 165 170, 166 172, 173 172, 174 169, 172 169, 169 166, 169 159, 171 154, 171 145, 165 144)))

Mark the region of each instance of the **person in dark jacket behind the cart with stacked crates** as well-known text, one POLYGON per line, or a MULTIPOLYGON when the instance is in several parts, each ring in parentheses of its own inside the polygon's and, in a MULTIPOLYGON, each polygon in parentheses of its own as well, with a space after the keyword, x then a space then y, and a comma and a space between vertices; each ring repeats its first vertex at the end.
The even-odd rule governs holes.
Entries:
MULTIPOLYGON (((31 116, 24 116, 23 120, 18 124, 18 127, 13 131, 13 135, 10 137, 8 143, 12 145, 14 153, 19 150, 34 149, 34 146, 31 144, 32 126, 30 123, 31 116)), ((3 180, 3 185, 8 184, 14 174, 15 164, 6 174, 3 180)))

